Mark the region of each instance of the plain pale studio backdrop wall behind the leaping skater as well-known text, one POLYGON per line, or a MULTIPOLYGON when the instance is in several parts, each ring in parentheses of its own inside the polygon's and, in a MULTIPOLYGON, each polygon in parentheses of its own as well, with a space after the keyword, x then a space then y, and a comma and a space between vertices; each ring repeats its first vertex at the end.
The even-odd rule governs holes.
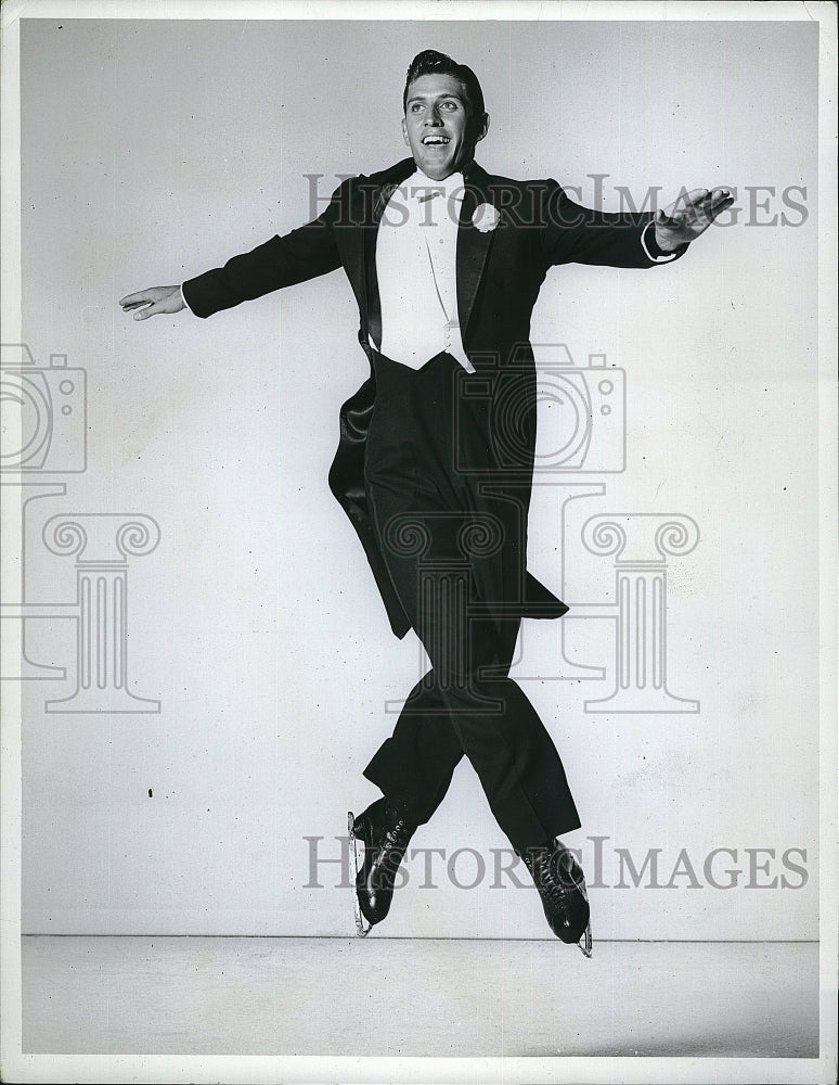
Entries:
MULTIPOLYGON (((134 323, 117 299, 402 157, 404 71, 430 47, 481 79, 492 173, 612 210, 618 186, 638 204, 737 188, 736 221, 675 267, 569 266, 543 288, 533 342, 625 372, 625 470, 542 475, 531 512, 531 569, 558 589, 565 567, 566 658, 605 676, 559 680, 559 624, 532 622, 516 673, 581 812, 567 842, 595 936, 815 937, 817 25, 24 18, 21 41, 24 340, 39 367, 87 371, 87 467, 42 472, 66 494, 27 507, 26 599, 76 599, 52 516, 160 529, 129 560, 127 621, 128 687, 159 712, 44 711, 76 688, 77 623, 27 623, 29 659, 67 675, 24 684, 24 932, 352 932, 339 866, 311 885, 312 847, 338 857, 346 810, 376 796, 361 771, 420 651, 390 634, 326 487, 338 407, 366 375, 348 283, 206 321, 134 323), (563 534, 569 483, 588 496, 563 534), (698 712, 585 710, 616 680, 615 559, 581 541, 607 513, 698 526, 668 559, 666 644, 670 690, 698 712), (581 604, 612 607, 583 621, 581 604), (638 868, 658 850, 657 881, 621 878, 619 850, 638 868)), ((542 422, 550 449, 547 404, 542 422)), ((417 856, 376 936, 547 935, 534 893, 493 888, 506 841, 467 763, 414 843, 446 850, 437 889, 417 856)))

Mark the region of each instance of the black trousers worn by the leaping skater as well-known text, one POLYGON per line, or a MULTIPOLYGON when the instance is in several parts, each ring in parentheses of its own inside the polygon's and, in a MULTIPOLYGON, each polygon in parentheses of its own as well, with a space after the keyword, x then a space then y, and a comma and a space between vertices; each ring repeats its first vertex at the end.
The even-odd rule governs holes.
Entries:
POLYGON ((489 413, 480 397, 463 395, 454 358, 440 354, 415 371, 377 355, 374 367, 366 492, 431 669, 364 776, 423 824, 465 755, 499 826, 524 851, 580 826, 556 748, 508 677, 526 502, 492 484, 489 413))

